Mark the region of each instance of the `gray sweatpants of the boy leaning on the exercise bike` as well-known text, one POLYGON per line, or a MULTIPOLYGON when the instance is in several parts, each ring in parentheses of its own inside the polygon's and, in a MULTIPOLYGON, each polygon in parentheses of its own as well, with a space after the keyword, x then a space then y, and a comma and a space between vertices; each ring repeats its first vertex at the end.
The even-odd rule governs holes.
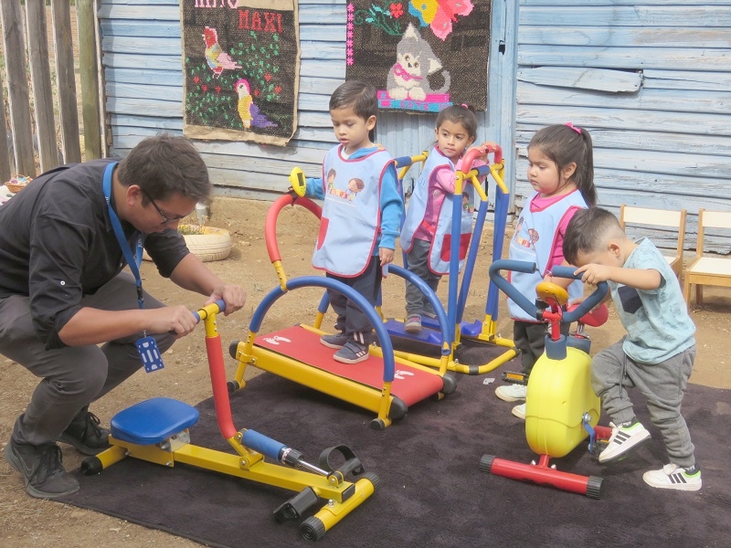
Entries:
POLYGON ((693 371, 695 346, 660 364, 641 364, 622 350, 622 339, 594 356, 591 387, 612 422, 634 418, 626 387, 635 387, 647 398, 652 424, 660 428, 670 461, 683 468, 694 466, 694 445, 680 413, 683 393, 693 371))

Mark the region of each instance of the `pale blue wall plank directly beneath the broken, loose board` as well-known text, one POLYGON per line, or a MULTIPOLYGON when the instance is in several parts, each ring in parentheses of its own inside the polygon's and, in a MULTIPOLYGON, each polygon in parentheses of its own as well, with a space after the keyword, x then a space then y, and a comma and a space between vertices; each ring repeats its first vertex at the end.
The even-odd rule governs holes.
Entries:
MULTIPOLYGON (((559 83, 560 85, 560 83, 559 83)), ((626 109, 628 111, 679 111, 729 114, 731 92, 686 90, 641 90, 636 94, 601 93, 538 86, 524 82, 518 86, 517 100, 528 105, 594 107, 597 109, 626 109)))

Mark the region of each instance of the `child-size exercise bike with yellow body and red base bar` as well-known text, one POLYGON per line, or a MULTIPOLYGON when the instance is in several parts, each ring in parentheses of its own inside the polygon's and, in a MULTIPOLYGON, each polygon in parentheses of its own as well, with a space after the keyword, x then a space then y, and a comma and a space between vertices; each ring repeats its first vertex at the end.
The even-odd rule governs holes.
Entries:
MULTIPOLYGON (((540 458, 537 463, 524 464, 493 455, 484 455, 480 469, 494 475, 519 479, 559 490, 567 490, 599 499, 602 479, 596 476, 580 476, 556 469, 551 458, 565 457, 587 437, 588 450, 598 452, 602 440, 611 435, 608 427, 599 427, 601 403, 590 383, 590 340, 583 334, 582 325, 599 326, 609 312, 606 306, 592 311, 607 295, 606 281, 599 282, 597 289, 577 307, 567 305, 568 292, 555 283, 541 282, 536 296, 550 309, 542 310, 516 290, 503 276, 500 269, 515 272, 535 272, 535 263, 501 259, 493 262, 490 277, 498 287, 518 306, 537 321, 550 325, 546 334, 546 352, 538 358, 528 377, 525 398, 525 437, 540 458), (578 321, 579 329, 568 337, 561 334, 561 324, 578 321)), ((573 267, 554 267, 551 274, 557 278, 577 279, 573 267)), ((604 444, 606 445, 606 444, 604 444)))

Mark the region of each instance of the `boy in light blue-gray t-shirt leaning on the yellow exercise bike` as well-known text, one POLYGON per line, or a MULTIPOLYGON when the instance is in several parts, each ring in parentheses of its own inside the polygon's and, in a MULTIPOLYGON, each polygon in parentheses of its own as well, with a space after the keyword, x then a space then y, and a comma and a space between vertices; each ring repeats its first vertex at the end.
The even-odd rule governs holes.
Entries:
POLYGON ((599 462, 627 457, 650 439, 634 416, 626 387, 647 397, 652 423, 660 429, 670 463, 645 472, 645 483, 675 490, 701 489, 701 470, 680 407, 695 359, 695 326, 680 284, 647 238, 628 238, 606 209, 577 211, 564 237, 564 257, 582 281, 609 282, 610 295, 627 336, 594 357, 591 385, 612 419, 609 445, 599 462))

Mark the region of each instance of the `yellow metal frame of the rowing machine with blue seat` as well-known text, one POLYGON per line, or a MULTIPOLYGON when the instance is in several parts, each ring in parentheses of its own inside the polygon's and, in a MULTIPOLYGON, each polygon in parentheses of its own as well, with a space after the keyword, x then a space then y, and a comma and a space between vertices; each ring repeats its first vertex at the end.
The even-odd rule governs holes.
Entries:
MULTIPOLYGON (((216 303, 209 304, 198 311, 201 321, 204 321, 207 338, 218 336, 217 311, 216 303)), ((313 515, 323 524, 324 531, 330 530, 376 490, 376 485, 372 480, 373 475, 371 475, 371 478, 364 477, 353 483, 345 481, 343 475, 337 472, 323 476, 302 469, 288 468, 266 462, 261 453, 242 445, 244 432, 246 432, 246 429, 242 429, 233 437, 228 438, 228 443, 235 449, 237 454, 224 453, 186 443, 189 437, 186 436, 187 431, 184 431, 179 434, 185 434, 185 436, 181 437, 179 434, 175 436, 177 439, 185 439, 183 443, 171 441, 171 438, 160 444, 145 446, 110 436, 111 448, 102 451, 93 458, 99 460, 102 469, 110 467, 122 458, 132 457, 170 468, 175 467, 175 463, 187 464, 241 479, 265 483, 285 490, 301 492, 310 488, 317 497, 327 501, 323 508, 313 515)))

